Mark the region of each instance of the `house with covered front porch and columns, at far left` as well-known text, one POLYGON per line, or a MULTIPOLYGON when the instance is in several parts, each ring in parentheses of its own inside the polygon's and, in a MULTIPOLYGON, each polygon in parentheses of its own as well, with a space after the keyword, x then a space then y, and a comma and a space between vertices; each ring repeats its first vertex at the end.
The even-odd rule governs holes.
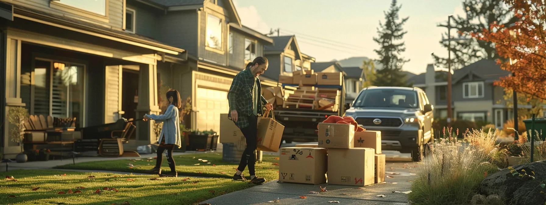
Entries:
MULTIPOLYGON (((124 0, 0 4, 5 18, 0 20, 2 122, 11 107, 25 107, 32 115, 74 117, 76 127, 159 113, 158 66, 187 61, 181 46, 134 34, 139 24, 130 19, 139 14, 131 13, 124 0)), ((8 137, 12 126, 0 127, 0 152, 7 158, 20 152, 8 137)), ((150 123, 136 126, 136 139, 126 149, 156 141, 150 123)))

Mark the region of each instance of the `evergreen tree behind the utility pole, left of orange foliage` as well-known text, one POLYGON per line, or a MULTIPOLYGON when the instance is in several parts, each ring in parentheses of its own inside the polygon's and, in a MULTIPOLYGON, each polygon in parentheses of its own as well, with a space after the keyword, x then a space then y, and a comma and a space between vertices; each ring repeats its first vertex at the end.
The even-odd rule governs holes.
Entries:
MULTIPOLYGON (((500 58, 494 43, 472 39, 470 33, 482 32, 484 29, 490 31, 489 25, 494 22, 505 27, 513 24, 517 19, 506 3, 500 0, 464 0, 462 8, 465 10, 465 16, 454 16, 451 20, 451 38, 464 39, 451 42, 451 68, 459 69, 483 58, 490 60, 500 58)), ((438 26, 447 28, 447 21, 438 26)), ((446 48, 446 52, 445 54, 442 52, 442 56, 447 56, 449 46, 447 34, 447 31, 442 34, 440 41, 443 48, 446 48)), ((432 54, 432 56, 437 66, 448 67, 447 57, 440 57, 436 54, 432 54)))

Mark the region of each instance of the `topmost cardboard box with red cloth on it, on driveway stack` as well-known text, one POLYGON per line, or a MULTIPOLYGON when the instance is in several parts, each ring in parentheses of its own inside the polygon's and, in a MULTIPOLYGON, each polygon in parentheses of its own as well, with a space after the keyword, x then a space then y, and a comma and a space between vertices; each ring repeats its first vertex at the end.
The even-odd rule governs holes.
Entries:
POLYGON ((323 123, 318 124, 318 147, 353 148, 354 125, 323 123))

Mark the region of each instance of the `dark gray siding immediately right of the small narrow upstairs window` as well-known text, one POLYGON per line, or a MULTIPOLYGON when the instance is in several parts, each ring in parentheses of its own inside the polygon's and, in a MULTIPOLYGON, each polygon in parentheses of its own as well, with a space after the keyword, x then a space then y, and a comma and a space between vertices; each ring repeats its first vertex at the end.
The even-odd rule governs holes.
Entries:
POLYGON ((150 8, 140 2, 134 0, 127 1, 127 8, 136 11, 136 34, 141 36, 159 39, 158 19, 164 15, 164 11, 159 11, 156 8, 150 8))

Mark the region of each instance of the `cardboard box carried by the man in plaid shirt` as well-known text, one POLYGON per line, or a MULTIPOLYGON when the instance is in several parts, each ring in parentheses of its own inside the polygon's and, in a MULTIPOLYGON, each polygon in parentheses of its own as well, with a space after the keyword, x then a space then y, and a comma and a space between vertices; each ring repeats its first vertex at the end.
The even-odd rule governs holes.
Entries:
POLYGON ((284 126, 272 118, 258 119, 257 148, 261 151, 277 152, 281 145, 284 126))

